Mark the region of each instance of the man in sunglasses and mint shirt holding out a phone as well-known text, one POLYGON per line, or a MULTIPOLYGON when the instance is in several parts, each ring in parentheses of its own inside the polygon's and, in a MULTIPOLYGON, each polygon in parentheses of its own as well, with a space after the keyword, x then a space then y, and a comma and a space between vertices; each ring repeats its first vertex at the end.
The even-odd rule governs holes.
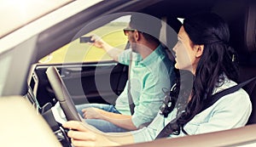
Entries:
POLYGON ((115 105, 77 105, 85 122, 102 132, 127 132, 154 119, 165 96, 162 89, 170 89, 175 79, 174 64, 157 39, 160 27, 161 21, 152 16, 132 14, 129 26, 124 29, 131 49, 125 51, 113 48, 99 37, 91 38, 94 46, 104 49, 119 63, 131 66, 130 79, 115 105), (128 90, 135 105, 134 114, 131 114, 128 90))

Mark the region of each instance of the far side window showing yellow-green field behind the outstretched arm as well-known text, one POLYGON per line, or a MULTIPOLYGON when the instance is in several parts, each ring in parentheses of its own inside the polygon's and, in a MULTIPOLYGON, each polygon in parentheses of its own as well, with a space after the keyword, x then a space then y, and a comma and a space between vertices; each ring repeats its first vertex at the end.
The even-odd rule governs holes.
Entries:
MULTIPOLYGON (((83 37, 90 37, 92 34, 96 34, 115 48, 125 48, 127 37, 125 37, 123 29, 127 27, 129 21, 129 15, 119 17, 106 25, 96 28, 90 33, 83 35, 83 37)), ((103 49, 96 48, 90 43, 80 42, 80 38, 78 38, 45 56, 43 59, 40 59, 39 63, 60 64, 102 60, 113 59, 111 59, 103 49)))

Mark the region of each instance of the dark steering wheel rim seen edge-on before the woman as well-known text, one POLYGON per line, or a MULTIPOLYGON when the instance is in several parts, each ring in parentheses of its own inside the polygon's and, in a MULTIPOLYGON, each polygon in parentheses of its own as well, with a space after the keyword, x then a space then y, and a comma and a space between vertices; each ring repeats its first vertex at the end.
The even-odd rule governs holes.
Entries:
POLYGON ((46 71, 46 75, 48 77, 50 86, 53 88, 55 97, 58 99, 61 109, 64 111, 67 121, 73 120, 81 122, 79 113, 73 103, 73 99, 71 99, 71 96, 67 91, 67 87, 62 81, 56 67, 49 66, 46 71))

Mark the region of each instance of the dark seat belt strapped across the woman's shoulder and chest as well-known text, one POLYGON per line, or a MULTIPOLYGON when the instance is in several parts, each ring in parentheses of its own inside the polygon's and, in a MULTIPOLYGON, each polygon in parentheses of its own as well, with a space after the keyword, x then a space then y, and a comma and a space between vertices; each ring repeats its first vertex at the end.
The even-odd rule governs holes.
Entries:
MULTIPOLYGON (((204 102, 204 106, 203 108, 197 113, 201 113, 201 111, 206 110, 208 107, 210 107, 211 105, 213 105, 215 102, 218 101, 218 99, 222 98, 224 95, 230 94, 230 93, 234 93, 236 92, 238 89, 244 87, 245 85, 247 85, 249 82, 253 82, 256 79, 256 76, 254 76, 253 78, 247 80, 246 82, 241 82, 240 84, 233 86, 231 88, 227 88, 224 89, 221 92, 215 93, 212 95, 211 99, 207 100, 206 102, 204 102)), ((164 127, 160 133, 157 135, 157 137, 155 139, 160 139, 160 138, 166 138, 168 137, 171 133, 176 134, 177 130, 179 130, 179 126, 176 123, 177 118, 174 119, 172 122, 169 122, 166 127, 164 127), (176 127, 177 130, 173 130, 173 128, 176 127)), ((178 133, 177 133, 178 134, 178 133)))

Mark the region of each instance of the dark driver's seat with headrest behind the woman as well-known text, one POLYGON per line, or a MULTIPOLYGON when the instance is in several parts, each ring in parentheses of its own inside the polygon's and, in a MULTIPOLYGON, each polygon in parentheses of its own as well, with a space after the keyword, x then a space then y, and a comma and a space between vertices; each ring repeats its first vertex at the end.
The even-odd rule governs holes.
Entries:
MULTIPOLYGON (((222 1, 212 8, 230 26, 230 45, 236 49, 239 58, 240 76, 238 82, 256 76, 256 3, 253 0, 222 1), (227 11, 226 6, 229 6, 227 11)), ((256 123, 256 82, 244 89, 250 95, 253 112, 247 124, 256 123)))

